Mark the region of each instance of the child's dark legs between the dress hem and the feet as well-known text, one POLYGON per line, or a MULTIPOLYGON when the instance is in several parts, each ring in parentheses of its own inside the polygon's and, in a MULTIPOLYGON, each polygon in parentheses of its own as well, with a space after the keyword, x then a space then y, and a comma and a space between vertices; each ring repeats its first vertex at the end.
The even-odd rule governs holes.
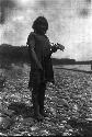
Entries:
POLYGON ((34 107, 34 114, 39 115, 44 111, 46 83, 35 85, 32 91, 32 102, 34 107))

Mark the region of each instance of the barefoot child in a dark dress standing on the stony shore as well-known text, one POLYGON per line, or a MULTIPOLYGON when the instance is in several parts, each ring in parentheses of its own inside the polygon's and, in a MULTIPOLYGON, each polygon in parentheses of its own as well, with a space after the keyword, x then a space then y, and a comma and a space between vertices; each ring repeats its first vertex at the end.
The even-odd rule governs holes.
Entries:
MULTIPOLYGON (((33 22, 33 32, 27 37, 31 72, 28 88, 32 89, 34 117, 42 121, 47 114, 44 110, 46 82, 54 82, 51 54, 57 52, 56 45, 51 46, 46 32, 48 22, 44 16, 38 16, 33 22)), ((64 49, 64 47, 62 47, 64 49)))

